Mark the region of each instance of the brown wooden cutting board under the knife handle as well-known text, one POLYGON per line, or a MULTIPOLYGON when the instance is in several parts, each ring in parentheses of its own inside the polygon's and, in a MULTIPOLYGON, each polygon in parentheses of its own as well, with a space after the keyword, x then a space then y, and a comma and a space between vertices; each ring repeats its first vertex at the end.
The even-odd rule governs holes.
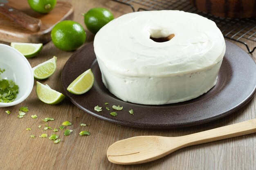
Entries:
POLYGON ((55 8, 47 14, 33 11, 27 0, 0 0, 27 15, 38 18, 42 25, 38 32, 29 31, 0 14, 0 41, 46 43, 51 40, 53 26, 62 20, 72 20, 74 10, 70 3, 57 1, 55 8))

